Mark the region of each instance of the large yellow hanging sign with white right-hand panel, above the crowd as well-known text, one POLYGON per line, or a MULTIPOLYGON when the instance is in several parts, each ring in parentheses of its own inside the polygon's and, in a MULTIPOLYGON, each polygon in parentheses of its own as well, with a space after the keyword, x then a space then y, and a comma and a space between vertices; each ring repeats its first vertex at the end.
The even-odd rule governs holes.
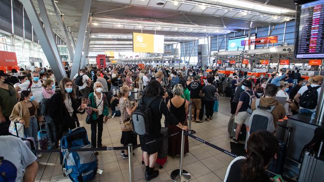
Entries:
POLYGON ((133 52, 164 53, 164 35, 134 32, 133 52))

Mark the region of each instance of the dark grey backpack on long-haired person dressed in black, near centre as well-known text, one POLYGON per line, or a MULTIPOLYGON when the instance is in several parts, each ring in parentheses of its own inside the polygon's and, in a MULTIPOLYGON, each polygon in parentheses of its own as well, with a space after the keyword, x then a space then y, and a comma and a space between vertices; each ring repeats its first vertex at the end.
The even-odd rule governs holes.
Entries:
POLYGON ((151 103, 157 97, 151 97, 147 103, 144 103, 143 97, 140 99, 139 105, 132 114, 133 131, 139 136, 145 136, 150 134, 150 128, 152 127, 153 114, 150 109, 151 103))

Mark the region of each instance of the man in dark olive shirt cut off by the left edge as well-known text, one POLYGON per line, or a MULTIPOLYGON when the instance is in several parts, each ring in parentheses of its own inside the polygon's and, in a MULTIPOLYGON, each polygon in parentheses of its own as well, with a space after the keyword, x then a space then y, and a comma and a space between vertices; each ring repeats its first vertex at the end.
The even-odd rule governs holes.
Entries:
POLYGON ((10 125, 9 116, 17 103, 17 92, 9 84, 7 75, 0 71, 0 132, 8 134, 10 125))

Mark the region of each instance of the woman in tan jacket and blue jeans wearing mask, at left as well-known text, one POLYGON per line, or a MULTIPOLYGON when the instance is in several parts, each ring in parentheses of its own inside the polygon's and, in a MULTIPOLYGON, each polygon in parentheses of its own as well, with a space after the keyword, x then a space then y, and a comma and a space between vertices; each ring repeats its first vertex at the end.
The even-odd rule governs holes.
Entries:
MULTIPOLYGON (((20 101, 14 105, 9 117, 11 121, 19 121, 20 124, 24 124, 26 137, 34 138, 36 149, 38 149, 38 124, 36 118, 38 105, 31 91, 21 91, 20 101)), ((38 158, 40 157, 41 154, 38 155, 38 158)))

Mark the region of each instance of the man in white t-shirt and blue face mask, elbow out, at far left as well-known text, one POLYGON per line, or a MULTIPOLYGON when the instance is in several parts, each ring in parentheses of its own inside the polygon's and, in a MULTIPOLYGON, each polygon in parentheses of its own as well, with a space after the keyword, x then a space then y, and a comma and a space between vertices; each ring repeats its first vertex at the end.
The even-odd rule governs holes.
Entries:
POLYGON ((40 94, 42 92, 42 83, 39 80, 39 73, 33 72, 32 73, 32 81, 26 81, 17 87, 15 87, 16 91, 25 91, 29 90, 32 92, 32 94, 35 97, 35 100, 39 103, 40 100, 40 94))

